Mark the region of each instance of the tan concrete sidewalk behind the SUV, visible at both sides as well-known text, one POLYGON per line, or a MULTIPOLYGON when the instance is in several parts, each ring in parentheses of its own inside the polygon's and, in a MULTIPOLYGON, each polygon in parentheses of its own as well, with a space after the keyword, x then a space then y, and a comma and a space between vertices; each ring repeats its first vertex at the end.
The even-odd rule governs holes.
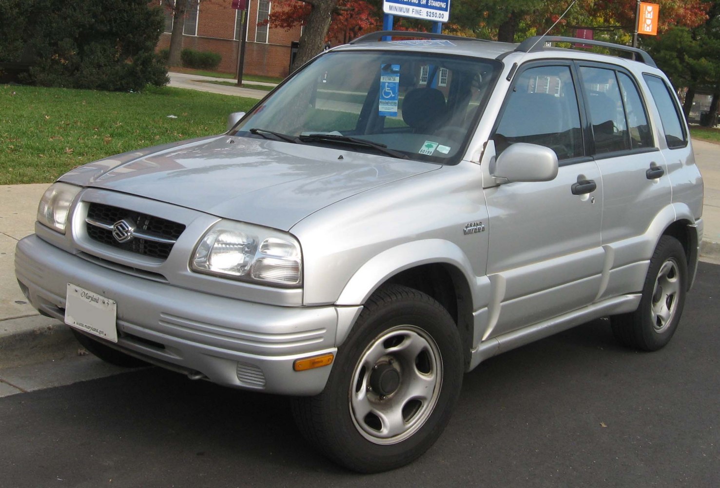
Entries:
MULTIPOLYGON (((694 141, 693 147, 705 181, 701 259, 720 264, 720 145, 694 141)), ((48 186, 0 187, 0 366, 58 358, 73 347, 77 350, 68 327, 37 314, 15 279, 15 244, 33 233, 37 203, 48 186)))

